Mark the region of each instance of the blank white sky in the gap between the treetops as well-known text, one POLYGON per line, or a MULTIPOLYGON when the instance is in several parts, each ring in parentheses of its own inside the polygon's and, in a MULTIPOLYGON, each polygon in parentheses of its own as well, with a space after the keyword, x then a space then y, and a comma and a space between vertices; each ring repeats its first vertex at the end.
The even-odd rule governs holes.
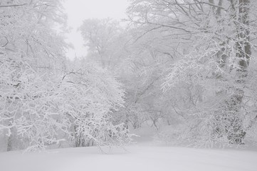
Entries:
POLYGON ((67 56, 73 59, 76 56, 85 56, 86 48, 83 46, 83 38, 77 31, 84 19, 124 19, 128 6, 127 0, 65 0, 65 12, 68 14, 68 26, 72 28, 68 34, 68 43, 73 43, 74 50, 70 49, 67 56))

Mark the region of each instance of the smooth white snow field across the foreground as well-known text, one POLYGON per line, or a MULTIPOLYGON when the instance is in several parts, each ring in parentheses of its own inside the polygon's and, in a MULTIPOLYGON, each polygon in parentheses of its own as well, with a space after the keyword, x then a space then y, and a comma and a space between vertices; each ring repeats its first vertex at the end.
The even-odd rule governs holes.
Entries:
MULTIPOLYGON (((104 149, 107 150, 107 149, 104 149)), ((0 153, 1 171, 256 171, 256 150, 132 145, 103 154, 97 147, 0 153)))

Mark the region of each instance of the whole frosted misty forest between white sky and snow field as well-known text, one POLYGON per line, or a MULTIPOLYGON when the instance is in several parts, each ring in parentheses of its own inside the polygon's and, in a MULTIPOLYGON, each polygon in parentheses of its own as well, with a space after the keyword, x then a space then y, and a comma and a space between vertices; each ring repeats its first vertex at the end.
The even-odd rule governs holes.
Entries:
POLYGON ((257 1, 130 0, 86 19, 88 54, 65 56, 61 0, 0 1, 1 151, 257 143, 257 1), (117 7, 118 8, 118 7, 117 7))

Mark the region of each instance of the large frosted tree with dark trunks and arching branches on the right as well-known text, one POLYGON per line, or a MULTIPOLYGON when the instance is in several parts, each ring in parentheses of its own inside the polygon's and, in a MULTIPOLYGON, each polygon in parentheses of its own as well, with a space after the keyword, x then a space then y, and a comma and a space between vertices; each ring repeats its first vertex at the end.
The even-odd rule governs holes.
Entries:
POLYGON ((174 51, 164 90, 192 88, 186 96, 192 105, 181 109, 187 111, 184 140, 241 144, 256 123, 249 88, 256 70, 254 11, 256 2, 248 0, 131 2, 130 20, 145 29, 140 38, 159 32, 154 41, 174 51))

